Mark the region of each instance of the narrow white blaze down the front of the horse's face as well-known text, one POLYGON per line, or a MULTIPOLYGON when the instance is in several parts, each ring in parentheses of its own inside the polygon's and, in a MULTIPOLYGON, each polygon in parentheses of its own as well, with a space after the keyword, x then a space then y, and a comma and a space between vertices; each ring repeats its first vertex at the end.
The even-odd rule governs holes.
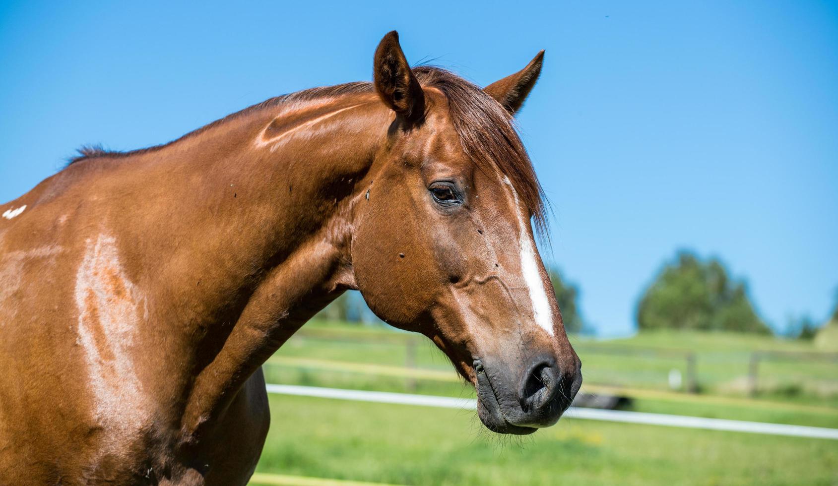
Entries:
POLYGON ((518 251, 520 253, 521 275, 530 293, 533 319, 538 327, 544 329, 553 336, 553 311, 550 308, 550 301, 547 299, 547 292, 544 288, 544 281, 541 280, 541 272, 538 271, 536 260, 535 244, 527 231, 528 221, 525 219, 525 210, 521 208, 518 191, 510 182, 510 178, 504 175, 504 184, 510 186, 512 198, 515 200, 515 214, 518 217, 518 251))

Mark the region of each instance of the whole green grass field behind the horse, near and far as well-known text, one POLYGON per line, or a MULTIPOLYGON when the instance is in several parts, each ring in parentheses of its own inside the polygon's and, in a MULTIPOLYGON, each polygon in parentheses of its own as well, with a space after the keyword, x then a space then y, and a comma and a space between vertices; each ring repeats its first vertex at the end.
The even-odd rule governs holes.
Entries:
MULTIPOLYGON (((409 339, 385 328, 307 324, 266 364, 266 380, 473 396, 432 344, 410 347, 409 339)), ((794 377, 794 393, 750 397, 719 385, 747 374, 754 350, 809 353, 806 343, 724 333, 576 341, 583 390, 624 392, 634 397, 635 411, 838 427, 838 400, 824 386, 838 380, 838 363, 828 355, 763 364, 765 380, 794 377), (641 353, 624 352, 631 348, 641 353), (685 352, 696 355, 699 379, 707 380, 701 394, 666 389, 666 373, 685 352)), ((838 442, 823 439, 572 415, 518 439, 486 432, 473 411, 296 396, 272 396, 271 403, 272 428, 257 469, 263 473, 396 484, 838 484, 838 442)))

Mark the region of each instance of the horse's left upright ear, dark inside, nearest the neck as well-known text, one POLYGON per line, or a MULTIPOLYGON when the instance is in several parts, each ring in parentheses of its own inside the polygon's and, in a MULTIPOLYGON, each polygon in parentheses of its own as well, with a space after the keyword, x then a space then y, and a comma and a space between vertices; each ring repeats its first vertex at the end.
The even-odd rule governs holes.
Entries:
POLYGON ((372 75, 375 90, 393 111, 410 121, 425 115, 425 94, 407 64, 395 30, 386 34, 375 49, 372 75))

